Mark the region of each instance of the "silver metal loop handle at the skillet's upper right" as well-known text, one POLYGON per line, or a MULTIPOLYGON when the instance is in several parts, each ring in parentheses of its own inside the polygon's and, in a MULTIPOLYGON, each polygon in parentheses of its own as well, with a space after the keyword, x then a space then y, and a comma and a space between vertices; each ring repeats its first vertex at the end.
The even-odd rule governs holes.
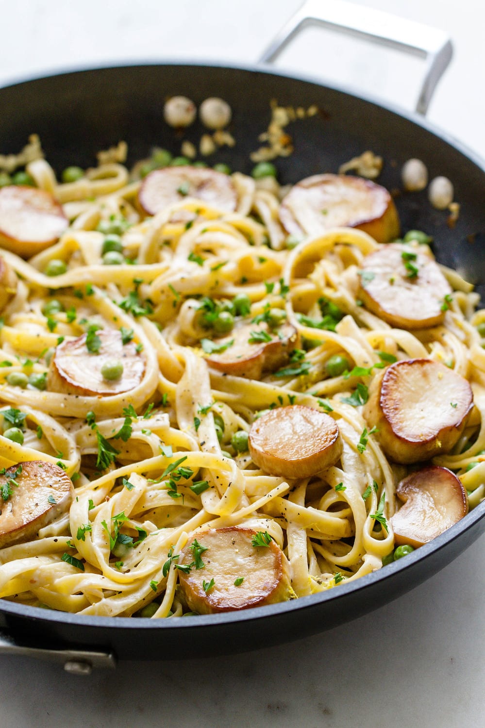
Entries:
POLYGON ((323 25, 425 58, 425 77, 416 104, 416 111, 423 116, 438 81, 452 60, 452 41, 444 31, 346 0, 307 0, 269 44, 259 63, 272 63, 308 25, 323 25))

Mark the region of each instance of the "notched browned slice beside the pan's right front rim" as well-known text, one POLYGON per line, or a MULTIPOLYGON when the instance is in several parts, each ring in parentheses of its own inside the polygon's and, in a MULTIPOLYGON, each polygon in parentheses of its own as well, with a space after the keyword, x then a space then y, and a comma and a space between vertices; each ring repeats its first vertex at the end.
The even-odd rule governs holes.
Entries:
POLYGON ((398 545, 422 546, 468 513, 465 488, 446 467, 433 465, 411 473, 396 494, 403 502, 391 518, 398 545))

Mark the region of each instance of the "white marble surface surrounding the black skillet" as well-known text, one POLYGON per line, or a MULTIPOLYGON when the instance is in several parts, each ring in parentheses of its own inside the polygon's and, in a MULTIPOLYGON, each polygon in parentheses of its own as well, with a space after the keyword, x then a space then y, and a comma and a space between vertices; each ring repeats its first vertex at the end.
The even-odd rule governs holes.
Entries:
MULTIPOLYGON (((360 4, 449 31, 454 60, 429 117, 485 157, 483 5, 360 4)), ((252 62, 297 7, 299 0, 0 0, 0 83, 111 60, 252 62)), ((353 42, 308 31, 284 65, 409 106, 419 63, 353 42)), ((482 536, 424 585, 367 617, 251 654, 126 662, 84 678, 4 657, 0 727, 482 728, 484 556, 482 536)))

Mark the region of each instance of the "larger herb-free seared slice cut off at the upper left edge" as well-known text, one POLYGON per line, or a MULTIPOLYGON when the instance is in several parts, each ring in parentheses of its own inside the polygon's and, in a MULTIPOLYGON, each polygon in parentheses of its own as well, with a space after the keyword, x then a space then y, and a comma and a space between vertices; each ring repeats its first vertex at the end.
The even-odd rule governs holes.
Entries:
POLYGON ((68 219, 52 194, 35 187, 0 189, 0 246, 21 258, 49 248, 66 231, 68 219))

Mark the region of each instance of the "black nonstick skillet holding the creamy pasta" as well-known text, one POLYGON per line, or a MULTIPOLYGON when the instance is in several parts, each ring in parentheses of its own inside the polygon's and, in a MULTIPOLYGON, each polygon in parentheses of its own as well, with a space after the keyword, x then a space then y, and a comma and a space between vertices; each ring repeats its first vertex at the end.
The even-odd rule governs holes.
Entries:
MULTIPOLYGON (((285 28, 277 47, 304 17, 285 28)), ((402 36, 394 41, 411 47, 402 36)), ((267 60, 277 54, 277 47, 268 50, 267 60)), ((446 44, 442 50, 440 55, 435 49, 433 60, 446 66, 446 44)), ((433 55, 429 48, 427 52, 433 55)), ((436 68, 433 63, 429 68, 421 111, 429 101, 436 68)), ((249 154, 259 146, 259 134, 269 122, 269 100, 276 98, 282 106, 320 108, 318 116, 288 127, 296 151, 276 162, 283 184, 335 172, 366 149, 385 160, 379 183, 387 189, 401 187, 400 170, 409 157, 422 159, 430 178, 449 177, 461 205, 454 228, 446 224, 446 213, 430 207, 425 192, 404 193, 396 198, 403 231, 431 234, 438 260, 458 269, 485 298, 484 162, 417 115, 342 88, 260 67, 164 63, 71 71, 0 90, 0 149, 15 152, 36 132, 58 172, 72 164, 92 165, 95 151, 120 139, 129 145, 129 163, 146 157, 154 144, 178 153, 181 139, 162 122, 162 108, 165 98, 181 93, 197 104, 217 95, 232 106, 231 131, 237 144, 218 151, 211 162, 227 162, 234 170, 251 170, 249 154)), ((197 142, 201 133, 195 124, 186 138, 197 142)), ((398 598, 446 566, 484 529, 482 503, 433 542, 357 582, 240 613, 154 622, 82 617, 4 601, 0 626, 6 632, 0 650, 57 659, 68 670, 83 673, 92 665, 112 666, 116 657, 174 659, 269 646, 333 628, 398 598)))

